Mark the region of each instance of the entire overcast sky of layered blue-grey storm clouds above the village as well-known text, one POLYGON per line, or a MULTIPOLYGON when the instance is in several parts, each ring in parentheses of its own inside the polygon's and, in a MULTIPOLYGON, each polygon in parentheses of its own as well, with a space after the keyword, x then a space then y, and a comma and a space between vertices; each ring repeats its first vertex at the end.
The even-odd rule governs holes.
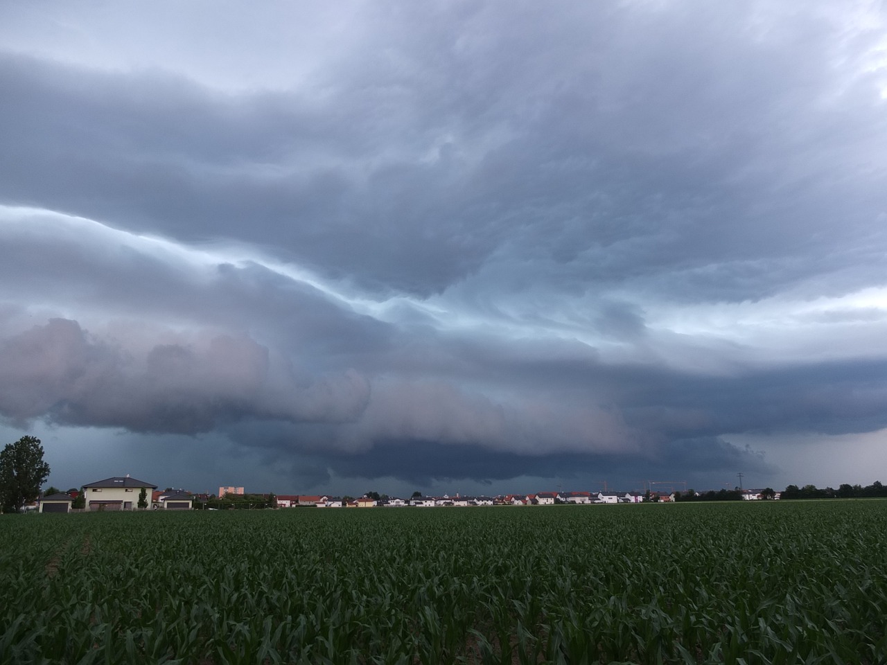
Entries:
POLYGON ((883 2, 5 2, 0 90, 62 489, 887 481, 883 2))

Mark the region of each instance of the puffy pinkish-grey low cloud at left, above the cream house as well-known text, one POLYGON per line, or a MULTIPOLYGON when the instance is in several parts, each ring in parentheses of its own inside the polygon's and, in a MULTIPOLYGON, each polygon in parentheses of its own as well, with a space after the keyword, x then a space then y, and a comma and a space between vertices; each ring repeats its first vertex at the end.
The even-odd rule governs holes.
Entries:
POLYGON ((369 398, 357 372, 310 379, 286 366, 271 372, 268 349, 253 340, 158 344, 139 357, 66 319, 4 340, 0 366, 0 413, 10 419, 135 432, 196 434, 245 415, 347 422, 369 398))

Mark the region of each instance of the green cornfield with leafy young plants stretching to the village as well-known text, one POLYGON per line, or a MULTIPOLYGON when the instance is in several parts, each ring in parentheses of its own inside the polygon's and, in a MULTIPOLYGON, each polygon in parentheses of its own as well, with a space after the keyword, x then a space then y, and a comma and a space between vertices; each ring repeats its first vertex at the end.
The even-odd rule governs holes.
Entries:
POLYGON ((11 515, 0 662, 884 663, 887 501, 11 515))

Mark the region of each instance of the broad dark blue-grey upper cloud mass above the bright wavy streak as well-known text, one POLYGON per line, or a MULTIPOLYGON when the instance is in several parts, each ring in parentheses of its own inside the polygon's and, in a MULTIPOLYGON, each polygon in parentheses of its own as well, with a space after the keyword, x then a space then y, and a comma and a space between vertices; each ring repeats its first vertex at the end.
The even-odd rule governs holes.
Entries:
POLYGON ((862 239, 883 210, 864 160, 885 121, 875 74, 829 72, 837 27, 755 35, 753 17, 703 6, 570 12, 524 8, 502 30, 489 11, 435 24, 398 8, 414 31, 365 35, 393 39, 391 58, 345 51, 301 92, 7 56, 0 193, 275 246, 382 290, 441 291, 489 260, 559 292, 627 281, 742 300, 804 279, 810 258, 855 267, 836 288, 859 286, 878 252, 832 252, 834 220, 862 239))

